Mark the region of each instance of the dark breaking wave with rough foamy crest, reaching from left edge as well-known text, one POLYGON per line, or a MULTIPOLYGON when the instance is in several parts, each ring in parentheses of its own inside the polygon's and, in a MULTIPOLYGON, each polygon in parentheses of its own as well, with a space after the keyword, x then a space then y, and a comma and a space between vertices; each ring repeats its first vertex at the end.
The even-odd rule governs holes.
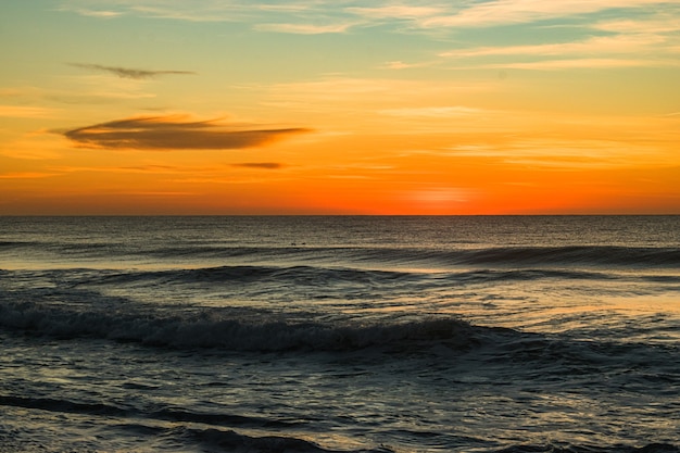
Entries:
POLYGON ((70 306, 36 302, 0 305, 0 327, 61 339, 97 338, 165 348, 226 351, 404 351, 438 342, 471 348, 486 329, 455 318, 406 323, 351 324, 295 322, 247 310, 187 311, 180 315, 143 306, 70 306))

